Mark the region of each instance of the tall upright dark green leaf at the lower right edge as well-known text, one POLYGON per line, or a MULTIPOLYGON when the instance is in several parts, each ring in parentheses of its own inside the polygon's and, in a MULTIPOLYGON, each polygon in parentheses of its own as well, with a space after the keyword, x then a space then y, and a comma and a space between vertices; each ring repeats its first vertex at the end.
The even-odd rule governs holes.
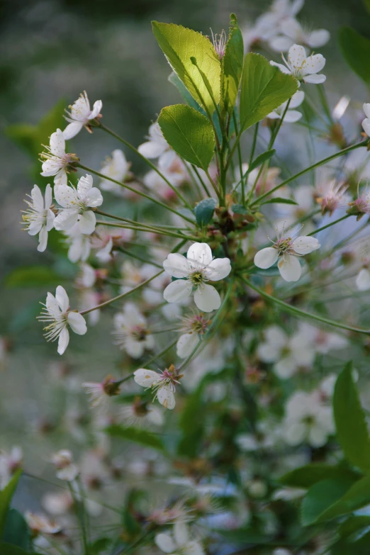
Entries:
POLYGON ((370 441, 349 362, 335 383, 333 410, 337 439, 346 458, 359 469, 370 471, 370 441))

